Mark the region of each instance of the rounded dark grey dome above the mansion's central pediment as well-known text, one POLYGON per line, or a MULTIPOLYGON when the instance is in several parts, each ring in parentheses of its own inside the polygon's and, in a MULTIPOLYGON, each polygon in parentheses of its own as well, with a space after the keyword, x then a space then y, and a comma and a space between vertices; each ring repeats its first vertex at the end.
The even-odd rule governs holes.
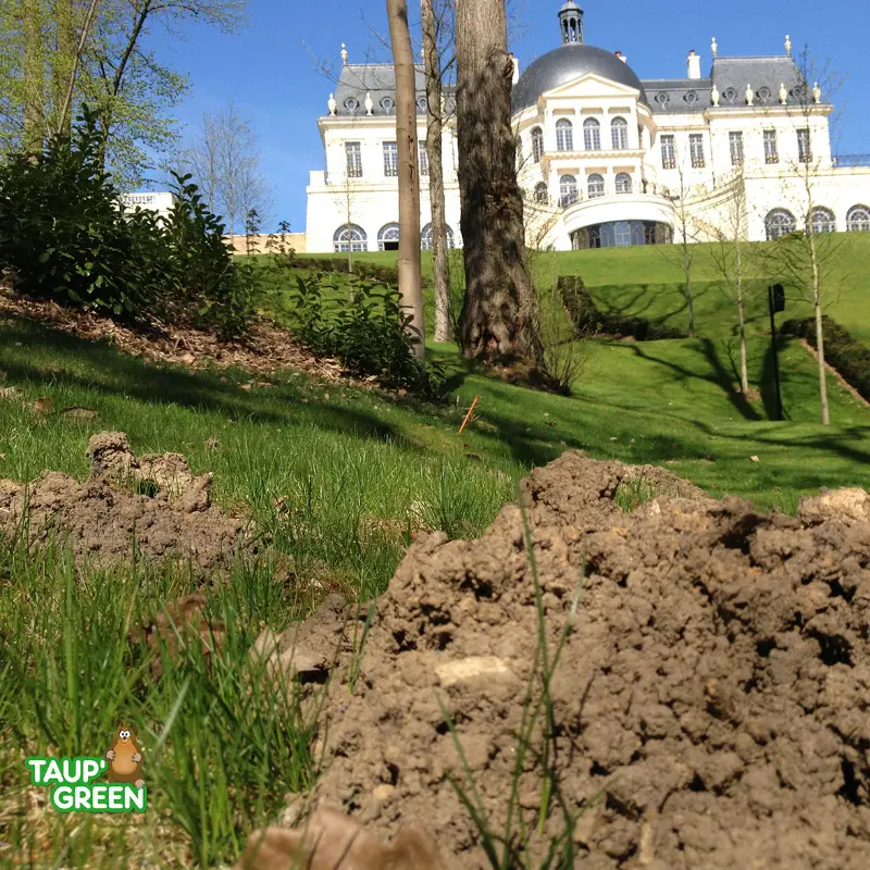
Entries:
POLYGON ((641 102, 647 102, 641 79, 625 61, 602 48, 585 42, 568 42, 543 54, 520 76, 511 97, 512 111, 519 112, 535 105, 542 94, 586 73, 595 73, 601 78, 639 90, 641 102))

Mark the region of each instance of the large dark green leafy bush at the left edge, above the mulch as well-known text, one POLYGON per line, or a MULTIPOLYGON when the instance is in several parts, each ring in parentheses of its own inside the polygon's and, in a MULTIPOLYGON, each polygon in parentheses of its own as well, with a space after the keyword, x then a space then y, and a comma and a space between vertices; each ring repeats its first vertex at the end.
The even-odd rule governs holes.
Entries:
POLYGON ((104 138, 87 109, 71 136, 0 165, 0 271, 15 288, 63 304, 136 320, 172 318, 247 328, 254 286, 223 241, 224 226, 190 176, 175 176, 169 219, 127 211, 102 167, 104 138))

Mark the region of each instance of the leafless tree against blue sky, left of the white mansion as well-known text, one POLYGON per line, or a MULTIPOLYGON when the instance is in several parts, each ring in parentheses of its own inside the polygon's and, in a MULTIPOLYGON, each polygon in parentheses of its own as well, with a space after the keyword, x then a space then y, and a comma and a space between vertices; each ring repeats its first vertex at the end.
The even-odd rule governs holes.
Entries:
POLYGON ((231 237, 244 232, 250 211, 264 216, 269 190, 257 136, 235 103, 203 113, 199 138, 185 162, 209 208, 223 215, 231 237))

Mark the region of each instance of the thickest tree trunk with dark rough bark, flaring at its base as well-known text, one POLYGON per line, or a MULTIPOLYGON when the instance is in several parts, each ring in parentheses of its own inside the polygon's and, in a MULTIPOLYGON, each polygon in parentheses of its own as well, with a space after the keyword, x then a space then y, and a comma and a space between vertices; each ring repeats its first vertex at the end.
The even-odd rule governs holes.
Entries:
POLYGON ((457 132, 465 299, 461 347, 542 364, 511 128, 505 0, 457 0, 457 132))

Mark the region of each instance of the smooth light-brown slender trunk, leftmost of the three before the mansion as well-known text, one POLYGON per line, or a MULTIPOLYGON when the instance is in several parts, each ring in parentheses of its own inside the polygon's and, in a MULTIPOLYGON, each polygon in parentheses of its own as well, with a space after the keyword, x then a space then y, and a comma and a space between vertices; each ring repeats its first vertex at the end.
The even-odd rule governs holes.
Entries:
POLYGON ((407 0, 387 0, 396 69, 396 141, 399 152, 399 295, 417 334, 414 353, 426 352, 420 274, 420 175, 417 149, 417 82, 407 0))

